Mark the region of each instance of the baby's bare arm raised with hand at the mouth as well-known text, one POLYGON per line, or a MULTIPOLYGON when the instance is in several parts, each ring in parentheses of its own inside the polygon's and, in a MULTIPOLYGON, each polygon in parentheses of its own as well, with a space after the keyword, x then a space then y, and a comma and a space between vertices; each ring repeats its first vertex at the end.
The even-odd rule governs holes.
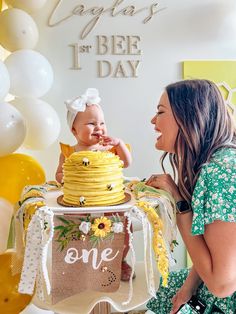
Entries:
POLYGON ((116 154, 124 162, 124 168, 127 168, 130 166, 132 162, 132 156, 129 149, 127 148, 127 146, 121 139, 113 138, 109 136, 103 136, 102 140, 103 140, 102 145, 104 146, 112 145, 115 148, 116 154))

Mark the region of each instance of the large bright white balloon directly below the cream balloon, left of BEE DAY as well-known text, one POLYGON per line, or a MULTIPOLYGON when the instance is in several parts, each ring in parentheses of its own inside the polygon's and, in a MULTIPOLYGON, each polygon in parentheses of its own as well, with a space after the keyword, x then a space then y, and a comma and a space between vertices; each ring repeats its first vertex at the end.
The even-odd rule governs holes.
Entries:
POLYGON ((36 51, 15 51, 6 58, 5 65, 10 76, 12 95, 39 98, 52 86, 52 67, 48 60, 36 51))

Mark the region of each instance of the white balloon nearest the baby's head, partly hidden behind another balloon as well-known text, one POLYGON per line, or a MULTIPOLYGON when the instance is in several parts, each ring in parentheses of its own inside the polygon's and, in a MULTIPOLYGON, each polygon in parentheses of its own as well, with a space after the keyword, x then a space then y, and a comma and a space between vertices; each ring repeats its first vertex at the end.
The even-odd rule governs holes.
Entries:
POLYGON ((52 106, 33 98, 16 98, 11 103, 26 120, 24 147, 40 150, 56 141, 60 132, 60 120, 52 106))

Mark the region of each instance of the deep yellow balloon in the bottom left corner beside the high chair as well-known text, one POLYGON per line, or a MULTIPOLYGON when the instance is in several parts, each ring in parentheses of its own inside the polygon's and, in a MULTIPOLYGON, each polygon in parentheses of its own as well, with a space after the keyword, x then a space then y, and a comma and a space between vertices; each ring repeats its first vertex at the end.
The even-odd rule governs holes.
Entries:
POLYGON ((32 296, 20 294, 20 274, 12 276, 11 259, 14 252, 0 255, 0 309, 4 314, 19 314, 30 303, 32 296))

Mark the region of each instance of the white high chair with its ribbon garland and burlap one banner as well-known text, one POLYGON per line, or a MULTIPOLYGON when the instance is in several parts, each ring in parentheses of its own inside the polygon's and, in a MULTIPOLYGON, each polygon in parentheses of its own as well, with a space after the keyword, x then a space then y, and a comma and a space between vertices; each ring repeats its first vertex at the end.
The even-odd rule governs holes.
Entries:
MULTIPOLYGON (((143 187, 140 183, 142 197, 143 187)), ((128 312, 155 296, 159 271, 167 282, 175 226, 166 195, 158 192, 154 197, 151 191, 155 209, 145 202, 138 205, 133 195, 114 206, 65 207, 57 201, 59 189, 42 187, 43 194, 39 190, 40 186, 27 189, 15 219, 16 249, 23 256, 18 291, 34 294, 32 302, 38 308, 58 314, 109 314, 112 306, 128 312), (142 230, 143 261, 136 261, 131 224, 133 231, 142 230), (120 281, 124 228, 129 233, 128 262, 136 274, 129 282, 120 281)))

